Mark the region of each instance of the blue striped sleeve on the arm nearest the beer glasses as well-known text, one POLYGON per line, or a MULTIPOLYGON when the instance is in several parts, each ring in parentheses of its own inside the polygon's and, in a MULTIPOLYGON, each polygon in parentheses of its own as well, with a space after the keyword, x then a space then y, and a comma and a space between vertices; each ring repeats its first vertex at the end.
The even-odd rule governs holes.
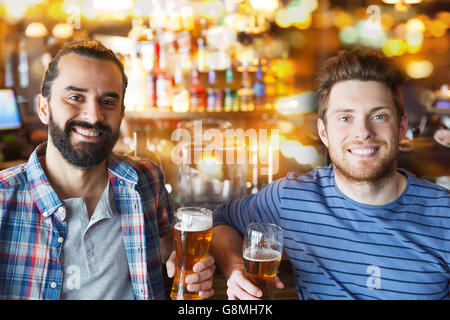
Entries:
POLYGON ((229 225, 241 235, 252 222, 280 223, 281 187, 284 178, 265 186, 256 194, 233 200, 216 208, 213 224, 229 225))

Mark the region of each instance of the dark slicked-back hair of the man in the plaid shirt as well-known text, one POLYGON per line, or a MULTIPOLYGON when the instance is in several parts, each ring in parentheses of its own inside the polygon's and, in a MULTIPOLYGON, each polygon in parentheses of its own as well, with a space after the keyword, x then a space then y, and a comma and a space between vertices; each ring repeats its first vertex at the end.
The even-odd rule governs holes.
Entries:
POLYGON ((120 60, 115 56, 114 52, 106 48, 100 41, 97 40, 77 40, 64 45, 48 64, 41 84, 41 94, 46 98, 50 97, 53 80, 58 77, 59 59, 61 59, 62 56, 72 52, 89 58, 111 61, 119 67, 120 74, 122 75, 123 107, 123 99, 125 98, 125 91, 128 85, 128 78, 125 74, 124 67, 120 60))

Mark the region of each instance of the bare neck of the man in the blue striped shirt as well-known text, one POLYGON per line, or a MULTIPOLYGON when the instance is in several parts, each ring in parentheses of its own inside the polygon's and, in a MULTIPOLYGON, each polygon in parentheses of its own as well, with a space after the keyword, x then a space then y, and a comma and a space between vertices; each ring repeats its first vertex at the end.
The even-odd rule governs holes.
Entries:
POLYGON ((407 177, 395 170, 391 175, 376 182, 352 181, 335 171, 335 181, 339 190, 347 197, 363 204, 384 205, 396 200, 405 190, 407 177))

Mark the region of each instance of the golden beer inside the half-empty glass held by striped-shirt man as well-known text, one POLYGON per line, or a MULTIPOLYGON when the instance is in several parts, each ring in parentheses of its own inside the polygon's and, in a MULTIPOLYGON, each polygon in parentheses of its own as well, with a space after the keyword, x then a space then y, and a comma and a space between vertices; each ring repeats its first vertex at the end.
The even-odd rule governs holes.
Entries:
POLYGON ((262 299, 271 300, 281 252, 267 248, 250 249, 243 258, 246 277, 262 290, 262 299))

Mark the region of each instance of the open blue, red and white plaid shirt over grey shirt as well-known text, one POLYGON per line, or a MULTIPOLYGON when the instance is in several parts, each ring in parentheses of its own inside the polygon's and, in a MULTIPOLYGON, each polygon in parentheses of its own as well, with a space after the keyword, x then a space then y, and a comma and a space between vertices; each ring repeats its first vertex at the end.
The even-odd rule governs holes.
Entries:
MULTIPOLYGON (((0 171, 0 299, 59 299, 67 224, 38 160, 45 150, 40 145, 28 163, 0 171)), ((163 174, 117 155, 108 174, 136 299, 164 299, 159 239, 172 229, 173 213, 163 174)))

